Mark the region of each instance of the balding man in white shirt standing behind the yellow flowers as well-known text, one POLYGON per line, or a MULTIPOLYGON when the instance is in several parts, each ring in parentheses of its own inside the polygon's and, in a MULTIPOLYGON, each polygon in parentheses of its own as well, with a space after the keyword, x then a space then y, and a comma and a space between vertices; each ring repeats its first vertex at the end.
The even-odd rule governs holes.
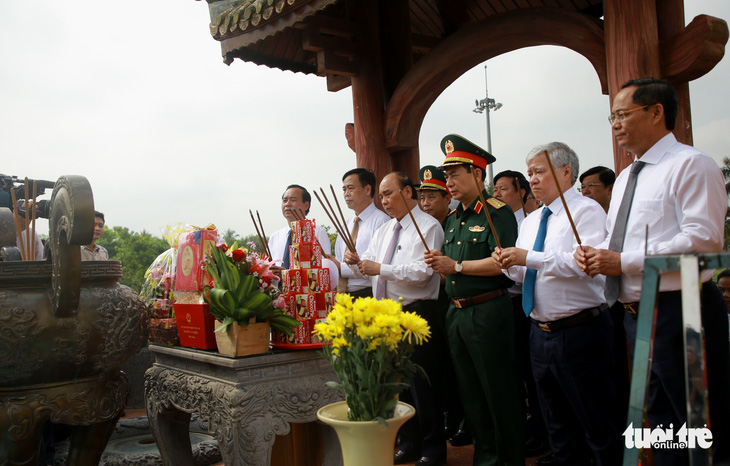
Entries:
MULTIPOLYGON (((344 260, 355 275, 370 278, 376 298, 403 298, 406 311, 416 312, 434 327, 440 276, 426 265, 426 248, 418 230, 429 250, 441 247, 444 232, 436 219, 418 207, 415 187, 405 173, 390 173, 383 178, 380 200, 391 220, 378 228, 362 256, 348 250, 344 260)), ((412 355, 412 360, 423 367, 431 381, 440 376, 440 368, 435 362, 443 349, 437 341, 430 340, 417 346, 412 355)), ((394 463, 417 461, 418 466, 443 465, 446 463, 446 437, 441 397, 421 377, 412 378, 410 385, 416 421, 401 428, 401 443, 394 463)))

